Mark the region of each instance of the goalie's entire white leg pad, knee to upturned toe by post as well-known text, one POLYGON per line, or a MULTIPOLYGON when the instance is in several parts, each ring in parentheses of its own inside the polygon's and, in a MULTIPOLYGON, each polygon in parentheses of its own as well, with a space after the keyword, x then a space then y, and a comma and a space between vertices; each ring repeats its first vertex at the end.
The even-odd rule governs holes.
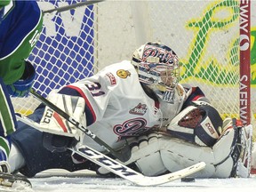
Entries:
POLYGON ((243 150, 250 153, 248 149, 250 148, 250 140, 248 140, 250 133, 247 128, 235 127, 234 129, 234 127, 228 124, 213 148, 198 146, 185 140, 155 133, 157 136, 153 137, 154 139, 148 137, 148 140, 140 140, 138 145, 132 148, 131 162, 134 161, 140 168, 140 172, 148 175, 157 175, 166 170, 176 172, 188 165, 204 161, 206 163, 204 170, 196 172, 193 177, 228 178, 238 175, 246 177, 246 174, 239 173, 239 170, 244 170, 241 166, 239 167, 239 161, 248 162, 248 160, 242 160, 248 159, 248 156, 241 159, 241 155, 244 154, 241 153, 241 149, 244 148, 243 150), (240 148, 240 146, 244 147, 240 148))

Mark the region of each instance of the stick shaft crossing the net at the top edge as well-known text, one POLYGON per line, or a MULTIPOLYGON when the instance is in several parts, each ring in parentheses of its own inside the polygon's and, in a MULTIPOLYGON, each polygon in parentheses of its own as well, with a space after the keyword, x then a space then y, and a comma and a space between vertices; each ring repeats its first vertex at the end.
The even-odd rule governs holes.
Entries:
POLYGON ((68 10, 71 10, 71 9, 76 9, 76 7, 80 7, 80 6, 88 6, 88 5, 92 5, 92 4, 97 4, 97 3, 100 3, 104 0, 92 0, 92 1, 85 1, 85 2, 80 2, 80 3, 76 3, 76 4, 69 4, 67 6, 62 6, 62 7, 58 7, 58 8, 55 8, 55 9, 51 9, 51 10, 46 10, 44 11, 43 13, 52 13, 52 12, 66 12, 68 10))

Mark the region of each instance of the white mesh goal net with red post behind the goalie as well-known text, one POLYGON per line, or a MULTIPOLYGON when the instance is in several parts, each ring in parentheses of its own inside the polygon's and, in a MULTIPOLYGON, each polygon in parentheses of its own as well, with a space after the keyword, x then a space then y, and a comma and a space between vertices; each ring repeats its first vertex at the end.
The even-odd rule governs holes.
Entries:
MULTIPOLYGON (((44 11, 76 3, 38 2, 44 11)), ((249 124, 249 3, 105 1, 45 14, 42 35, 28 58, 36 67, 33 86, 46 97, 52 89, 92 76, 104 66, 131 60, 140 44, 158 41, 180 57, 181 84, 199 86, 222 118, 241 116, 249 124)), ((38 105, 32 96, 12 100, 15 110, 27 115, 38 105)))

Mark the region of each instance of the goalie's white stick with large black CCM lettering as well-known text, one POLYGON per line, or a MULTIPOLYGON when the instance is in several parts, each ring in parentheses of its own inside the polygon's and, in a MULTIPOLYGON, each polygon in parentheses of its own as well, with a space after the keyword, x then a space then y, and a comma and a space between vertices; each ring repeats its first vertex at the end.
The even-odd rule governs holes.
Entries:
MULTIPOLYGON (((24 124, 28 124, 36 128, 37 130, 42 131, 40 128, 41 126, 40 124, 32 121, 26 116, 17 116, 17 119, 23 122, 24 124)), ((148 177, 148 176, 144 176, 140 172, 135 172, 128 166, 88 146, 81 146, 79 148, 68 148, 68 149, 75 152, 77 155, 83 156, 84 158, 92 161, 94 164, 98 164, 101 167, 104 167, 109 172, 115 173, 116 175, 123 178, 124 180, 129 180, 133 184, 136 184, 138 186, 162 185, 164 183, 171 182, 173 180, 178 180, 178 179, 187 177, 188 175, 191 175, 195 172, 199 172, 202 169, 204 169, 206 165, 204 162, 200 162, 198 164, 194 164, 185 169, 182 169, 178 172, 172 172, 172 173, 168 173, 168 174, 164 174, 156 177, 148 177)))

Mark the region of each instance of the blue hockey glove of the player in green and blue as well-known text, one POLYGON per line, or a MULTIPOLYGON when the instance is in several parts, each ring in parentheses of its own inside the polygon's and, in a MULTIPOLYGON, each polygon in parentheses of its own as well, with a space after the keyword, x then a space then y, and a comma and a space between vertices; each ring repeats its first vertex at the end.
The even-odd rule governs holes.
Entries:
POLYGON ((29 61, 26 61, 23 76, 13 84, 6 85, 7 91, 13 97, 28 97, 28 93, 30 92, 35 77, 35 68, 29 61))

